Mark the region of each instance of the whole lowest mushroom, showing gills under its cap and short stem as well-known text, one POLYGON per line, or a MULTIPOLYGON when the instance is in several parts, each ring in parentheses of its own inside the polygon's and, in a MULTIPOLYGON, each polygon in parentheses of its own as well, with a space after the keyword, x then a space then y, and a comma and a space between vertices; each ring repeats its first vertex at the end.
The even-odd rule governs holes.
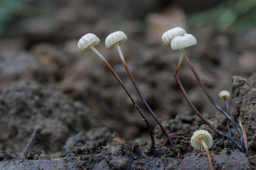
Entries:
POLYGON ((191 137, 191 144, 197 150, 205 150, 211 170, 214 170, 209 147, 212 146, 212 136, 207 130, 197 130, 191 137))

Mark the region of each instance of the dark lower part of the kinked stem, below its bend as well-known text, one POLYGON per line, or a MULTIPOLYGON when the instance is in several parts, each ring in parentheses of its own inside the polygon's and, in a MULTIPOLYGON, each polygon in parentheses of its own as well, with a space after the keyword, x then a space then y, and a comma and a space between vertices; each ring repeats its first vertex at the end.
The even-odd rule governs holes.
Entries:
POLYGON ((239 150, 241 150, 242 152, 244 152, 243 147, 241 147, 239 145, 239 143, 237 143, 233 138, 231 138, 231 136, 227 136, 225 133, 221 132, 220 130, 216 129, 214 126, 212 126, 206 119, 204 119, 204 116, 201 115, 201 113, 195 108, 195 106, 192 104, 192 102, 190 101, 188 95, 186 94, 185 89, 183 88, 183 85, 180 82, 179 77, 177 76, 176 73, 174 73, 174 77, 179 85, 179 88, 183 94, 183 96, 185 97, 186 101, 189 103, 190 107, 193 109, 193 111, 195 111, 195 113, 202 119, 202 121, 209 126, 212 130, 214 130, 218 135, 220 136, 224 136, 225 138, 229 139, 231 142, 233 142, 234 144, 236 144, 236 146, 239 148, 239 150))

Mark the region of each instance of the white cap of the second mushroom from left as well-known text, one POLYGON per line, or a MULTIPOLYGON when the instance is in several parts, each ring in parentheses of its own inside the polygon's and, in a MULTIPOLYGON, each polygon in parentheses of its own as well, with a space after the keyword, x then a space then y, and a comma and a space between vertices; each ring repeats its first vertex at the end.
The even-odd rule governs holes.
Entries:
POLYGON ((109 34, 108 37, 105 40, 105 46, 108 49, 115 48, 116 42, 118 42, 119 45, 122 45, 127 41, 127 36, 122 31, 116 31, 112 34, 109 34))

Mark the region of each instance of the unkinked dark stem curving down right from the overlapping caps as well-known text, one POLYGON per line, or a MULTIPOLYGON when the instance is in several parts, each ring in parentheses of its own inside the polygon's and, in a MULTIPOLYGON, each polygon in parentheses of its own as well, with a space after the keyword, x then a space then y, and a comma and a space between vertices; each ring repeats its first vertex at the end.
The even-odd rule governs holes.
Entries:
POLYGON ((237 125, 237 123, 236 123, 222 108, 220 108, 220 107, 217 105, 217 103, 215 102, 215 100, 212 98, 212 96, 209 94, 209 92, 207 91, 207 89, 204 87, 203 82, 201 81, 200 77, 198 76, 197 72, 195 71, 195 68, 194 68, 194 66, 192 65, 192 63, 190 62, 189 57, 186 55, 186 52, 184 51, 183 54, 184 54, 184 58, 186 59, 187 63, 189 64, 189 67, 191 68, 193 74, 195 75, 196 79, 198 80, 199 85, 200 85, 201 88, 203 89, 203 91, 204 91, 204 93, 206 94, 206 96, 208 97, 208 99, 209 99, 209 100, 212 102, 212 104, 213 104, 219 111, 221 111, 221 113, 223 113, 224 116, 226 116, 227 119, 228 119, 230 122, 232 122, 233 125, 236 127, 236 129, 237 129, 237 131, 238 131, 238 133, 239 133, 239 135, 240 135, 240 138, 241 138, 241 140, 240 140, 240 146, 242 146, 244 142, 243 142, 243 137, 242 137, 243 135, 242 135, 241 129, 239 128, 239 126, 237 125))

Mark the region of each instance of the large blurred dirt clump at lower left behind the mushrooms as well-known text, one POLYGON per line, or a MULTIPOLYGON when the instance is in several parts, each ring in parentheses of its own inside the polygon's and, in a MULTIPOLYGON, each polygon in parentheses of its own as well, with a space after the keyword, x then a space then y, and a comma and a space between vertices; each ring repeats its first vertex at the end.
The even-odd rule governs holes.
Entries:
POLYGON ((89 109, 57 89, 43 89, 36 82, 16 82, 0 90, 1 152, 19 153, 36 126, 36 152, 59 151, 66 139, 93 126, 89 109))

